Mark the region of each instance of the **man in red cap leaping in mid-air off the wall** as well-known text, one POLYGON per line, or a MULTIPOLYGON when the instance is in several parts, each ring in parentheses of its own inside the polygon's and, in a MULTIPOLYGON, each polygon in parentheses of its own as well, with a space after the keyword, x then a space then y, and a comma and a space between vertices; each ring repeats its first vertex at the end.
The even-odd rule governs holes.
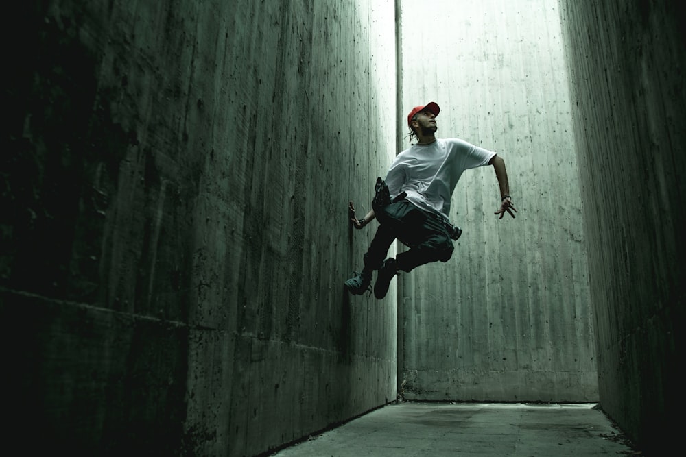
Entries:
POLYGON ((462 230, 448 219, 450 200, 464 170, 493 165, 501 196, 500 209, 495 214, 502 219, 507 212, 514 218, 512 211, 517 212, 512 206, 504 160, 495 152, 458 138, 436 138, 438 112, 440 108, 433 101, 412 108, 407 115, 407 126, 410 140, 416 137, 416 145, 398 154, 385 183, 381 178, 377 180, 377 195, 365 217, 357 219, 355 206, 352 201, 349 203, 351 222, 356 229, 365 227, 375 217, 380 223, 364 254, 362 273, 355 273, 345 282, 348 291, 355 295, 370 290, 374 270, 379 271, 374 295, 382 299, 400 270, 409 272, 420 265, 438 260, 447 262, 451 258, 453 240, 460 237, 462 230), (386 201, 381 203, 383 200, 386 201), (398 254, 397 258, 386 258, 396 238, 410 250, 398 254))

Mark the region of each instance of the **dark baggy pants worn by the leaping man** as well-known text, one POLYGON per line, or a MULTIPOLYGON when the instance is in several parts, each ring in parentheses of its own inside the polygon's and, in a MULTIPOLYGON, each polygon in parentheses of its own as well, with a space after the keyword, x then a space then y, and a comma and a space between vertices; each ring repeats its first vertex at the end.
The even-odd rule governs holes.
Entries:
POLYGON ((388 248, 397 238, 410 247, 398 254, 399 270, 412 271, 420 265, 447 262, 453 255, 453 240, 447 227, 433 215, 417 208, 410 201, 391 203, 377 214, 379 228, 366 254, 365 269, 378 270, 388 254, 388 248))

